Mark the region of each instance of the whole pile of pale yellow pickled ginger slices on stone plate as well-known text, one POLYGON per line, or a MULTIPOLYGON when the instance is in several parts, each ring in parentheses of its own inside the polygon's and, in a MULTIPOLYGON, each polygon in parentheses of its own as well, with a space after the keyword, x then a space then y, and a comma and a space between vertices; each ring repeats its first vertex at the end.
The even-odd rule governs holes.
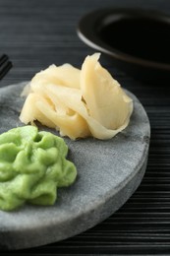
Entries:
POLYGON ((133 100, 100 65, 99 56, 87 56, 81 70, 64 64, 37 73, 30 82, 21 121, 34 124, 37 120, 73 140, 89 136, 106 140, 125 129, 133 100))

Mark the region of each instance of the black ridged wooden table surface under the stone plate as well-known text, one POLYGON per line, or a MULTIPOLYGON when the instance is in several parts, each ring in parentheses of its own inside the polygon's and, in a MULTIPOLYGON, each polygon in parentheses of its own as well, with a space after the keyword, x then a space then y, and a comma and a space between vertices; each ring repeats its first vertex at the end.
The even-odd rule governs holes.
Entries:
MULTIPOLYGON (((167 0, 0 0, 0 53, 7 53, 14 65, 0 87, 28 81, 52 63, 80 68, 94 50, 79 39, 78 22, 87 12, 109 6, 170 14, 167 0)), ((117 213, 82 234, 1 255, 170 254, 170 82, 154 87, 125 75, 103 56, 100 60, 139 97, 150 120, 148 165, 141 186, 117 213)))

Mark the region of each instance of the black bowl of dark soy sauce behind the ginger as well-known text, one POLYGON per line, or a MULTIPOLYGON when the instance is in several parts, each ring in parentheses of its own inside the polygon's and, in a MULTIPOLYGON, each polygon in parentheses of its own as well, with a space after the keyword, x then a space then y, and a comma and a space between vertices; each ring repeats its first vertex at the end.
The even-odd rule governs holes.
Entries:
POLYGON ((155 83, 170 79, 168 15, 150 10, 96 10, 81 19, 78 34, 131 76, 155 83))

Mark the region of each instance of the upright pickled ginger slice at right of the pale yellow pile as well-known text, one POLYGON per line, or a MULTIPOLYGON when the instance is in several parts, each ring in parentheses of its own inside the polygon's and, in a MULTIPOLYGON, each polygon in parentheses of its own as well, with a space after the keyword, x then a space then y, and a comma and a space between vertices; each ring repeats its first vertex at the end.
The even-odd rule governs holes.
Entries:
POLYGON ((81 72, 81 90, 89 115, 107 129, 126 127, 133 101, 98 62, 100 54, 87 56, 81 72))

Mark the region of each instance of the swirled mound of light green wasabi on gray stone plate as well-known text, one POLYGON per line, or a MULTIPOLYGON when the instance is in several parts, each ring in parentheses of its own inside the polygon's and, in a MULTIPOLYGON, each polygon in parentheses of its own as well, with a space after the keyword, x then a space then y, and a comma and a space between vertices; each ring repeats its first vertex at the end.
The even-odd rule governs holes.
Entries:
POLYGON ((12 211, 26 202, 53 205, 57 188, 71 185, 77 176, 67 154, 62 138, 33 126, 1 134, 0 209, 12 211))

